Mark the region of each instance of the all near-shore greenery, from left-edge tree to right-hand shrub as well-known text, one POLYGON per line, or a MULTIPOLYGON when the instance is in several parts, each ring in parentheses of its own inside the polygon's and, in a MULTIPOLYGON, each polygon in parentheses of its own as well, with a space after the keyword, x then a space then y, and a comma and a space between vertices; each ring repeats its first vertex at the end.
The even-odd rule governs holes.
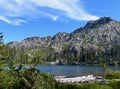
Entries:
MULTIPOLYGON (((21 64, 15 58, 15 51, 2 42, 0 33, 0 89, 119 89, 120 72, 108 72, 106 78, 109 84, 104 83, 60 83, 52 75, 42 73, 35 69, 35 65, 21 64)), ((20 55, 21 59, 23 55, 20 55)), ((19 58, 20 58, 19 57, 19 58)), ((26 57, 27 59, 27 57, 26 57)), ((26 60, 28 61, 28 60, 26 60)))

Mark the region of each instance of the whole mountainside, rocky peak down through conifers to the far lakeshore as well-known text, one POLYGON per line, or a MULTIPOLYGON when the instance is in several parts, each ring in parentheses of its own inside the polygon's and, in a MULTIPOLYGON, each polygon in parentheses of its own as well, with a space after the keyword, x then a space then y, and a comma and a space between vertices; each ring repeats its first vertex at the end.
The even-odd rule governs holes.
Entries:
POLYGON ((120 22, 110 17, 102 17, 89 21, 72 33, 59 32, 53 37, 31 37, 8 45, 16 50, 27 50, 25 52, 31 55, 34 50, 37 55, 42 54, 40 59, 45 62, 57 60, 60 64, 119 63, 120 22))

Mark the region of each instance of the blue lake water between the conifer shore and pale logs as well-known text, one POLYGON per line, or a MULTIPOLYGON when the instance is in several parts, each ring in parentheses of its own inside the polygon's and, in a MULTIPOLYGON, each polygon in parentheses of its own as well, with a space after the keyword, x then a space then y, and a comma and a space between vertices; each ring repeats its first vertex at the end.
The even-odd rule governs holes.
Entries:
MULTIPOLYGON (((110 66, 112 70, 115 70, 114 66, 110 66)), ((42 72, 50 73, 54 76, 83 76, 83 75, 102 75, 103 71, 100 66, 76 66, 76 65, 50 65, 50 66, 37 66, 42 72)), ((120 70, 120 67, 118 67, 120 70)))

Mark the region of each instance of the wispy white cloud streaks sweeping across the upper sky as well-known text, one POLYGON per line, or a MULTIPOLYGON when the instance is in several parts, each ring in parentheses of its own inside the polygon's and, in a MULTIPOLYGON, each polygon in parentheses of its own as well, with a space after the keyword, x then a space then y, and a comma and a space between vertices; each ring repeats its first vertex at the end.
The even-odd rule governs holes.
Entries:
POLYGON ((59 18, 75 20, 96 20, 83 8, 81 0, 0 0, 0 20, 20 25, 29 20, 59 18))

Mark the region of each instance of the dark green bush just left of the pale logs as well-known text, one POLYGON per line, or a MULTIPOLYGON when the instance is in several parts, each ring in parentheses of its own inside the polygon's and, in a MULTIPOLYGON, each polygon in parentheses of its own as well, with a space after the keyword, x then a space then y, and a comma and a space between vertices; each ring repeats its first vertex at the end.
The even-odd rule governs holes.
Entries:
POLYGON ((19 80, 20 89, 53 89, 55 81, 51 75, 41 73, 35 68, 20 70, 19 80))

